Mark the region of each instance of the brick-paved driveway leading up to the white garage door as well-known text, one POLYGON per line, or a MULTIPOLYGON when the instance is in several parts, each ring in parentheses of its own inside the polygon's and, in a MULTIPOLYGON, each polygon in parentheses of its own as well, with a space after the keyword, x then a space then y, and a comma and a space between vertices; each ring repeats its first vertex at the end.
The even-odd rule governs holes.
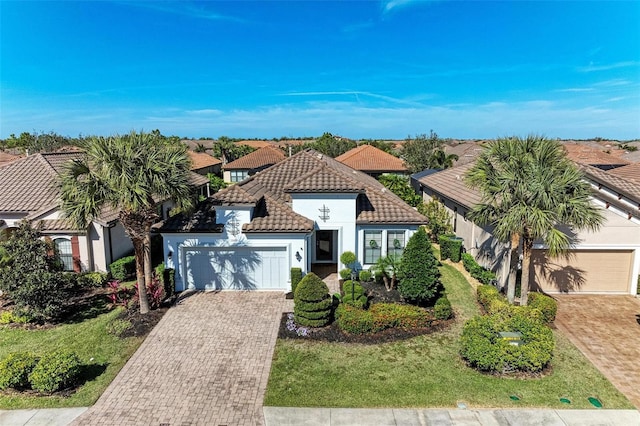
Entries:
POLYGON ((284 295, 194 293, 172 307, 77 425, 262 425, 284 295))

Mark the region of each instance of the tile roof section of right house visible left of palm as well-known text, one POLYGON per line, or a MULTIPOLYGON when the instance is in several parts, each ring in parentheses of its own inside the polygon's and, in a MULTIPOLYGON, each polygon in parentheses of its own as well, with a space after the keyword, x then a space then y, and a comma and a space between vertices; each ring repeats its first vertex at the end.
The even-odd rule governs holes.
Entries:
POLYGON ((464 175, 473 164, 468 163, 423 176, 418 179, 418 182, 441 196, 455 200, 461 205, 470 208, 479 204, 482 199, 480 192, 469 188, 464 183, 464 175))

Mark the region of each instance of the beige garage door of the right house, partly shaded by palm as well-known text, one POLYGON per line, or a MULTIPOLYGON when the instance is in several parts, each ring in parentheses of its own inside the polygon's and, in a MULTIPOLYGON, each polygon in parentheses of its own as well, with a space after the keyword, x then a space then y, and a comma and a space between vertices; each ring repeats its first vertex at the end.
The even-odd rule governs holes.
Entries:
POLYGON ((556 259, 534 250, 531 273, 545 292, 628 293, 632 262, 631 250, 574 250, 556 259))

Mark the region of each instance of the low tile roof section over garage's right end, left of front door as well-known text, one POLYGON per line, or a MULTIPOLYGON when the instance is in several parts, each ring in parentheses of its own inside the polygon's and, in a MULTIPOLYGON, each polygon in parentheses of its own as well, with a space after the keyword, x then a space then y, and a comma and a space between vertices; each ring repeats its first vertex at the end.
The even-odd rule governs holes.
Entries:
POLYGON ((253 219, 244 224, 244 232, 311 232, 314 223, 291 210, 287 204, 279 203, 268 195, 256 206, 253 219))

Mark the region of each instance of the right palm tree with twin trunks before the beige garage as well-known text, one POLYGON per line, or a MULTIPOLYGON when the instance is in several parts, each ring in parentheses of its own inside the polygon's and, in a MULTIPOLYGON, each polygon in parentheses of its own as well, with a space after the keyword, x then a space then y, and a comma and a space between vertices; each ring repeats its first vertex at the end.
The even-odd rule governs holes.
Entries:
POLYGON ((566 157, 562 145, 551 139, 530 135, 491 141, 465 180, 482 194, 469 218, 480 225, 493 225, 498 240, 511 244, 507 291, 511 302, 520 242, 520 304, 526 305, 534 241, 541 239, 547 253, 556 257, 575 242, 560 226, 568 227, 569 232, 596 231, 604 222, 598 207, 590 202, 591 190, 582 172, 566 157))

